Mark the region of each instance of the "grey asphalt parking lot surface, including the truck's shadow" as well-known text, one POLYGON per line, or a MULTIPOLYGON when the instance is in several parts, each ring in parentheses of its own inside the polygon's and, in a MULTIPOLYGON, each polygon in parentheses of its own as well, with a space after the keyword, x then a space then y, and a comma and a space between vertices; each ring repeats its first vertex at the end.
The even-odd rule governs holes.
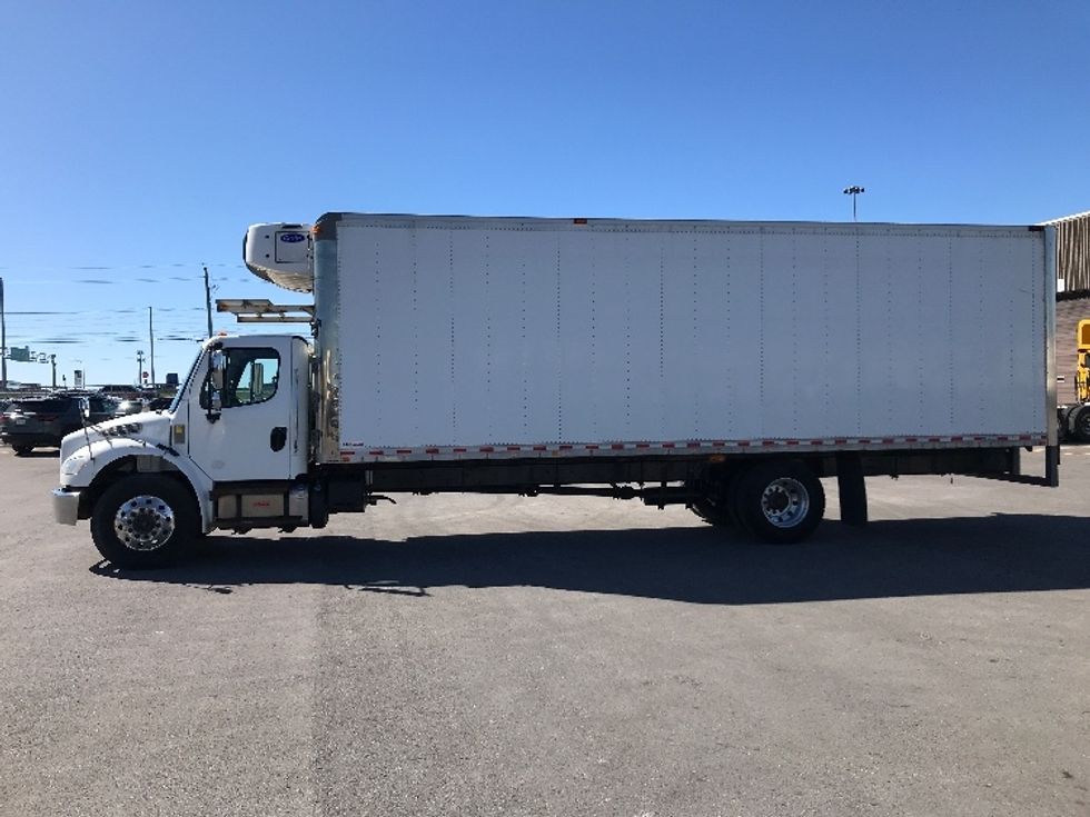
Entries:
POLYGON ((0 448, 0 814, 1088 815, 1088 455, 794 547, 408 496, 119 572, 0 448))

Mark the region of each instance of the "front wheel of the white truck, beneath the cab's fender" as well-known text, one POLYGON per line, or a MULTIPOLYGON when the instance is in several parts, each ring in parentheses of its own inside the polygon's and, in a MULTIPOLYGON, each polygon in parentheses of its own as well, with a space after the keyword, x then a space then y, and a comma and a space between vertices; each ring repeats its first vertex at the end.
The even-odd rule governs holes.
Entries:
POLYGON ((99 497, 91 514, 91 538, 102 558, 117 567, 152 568, 175 561, 200 530, 197 504, 176 479, 131 476, 99 497))

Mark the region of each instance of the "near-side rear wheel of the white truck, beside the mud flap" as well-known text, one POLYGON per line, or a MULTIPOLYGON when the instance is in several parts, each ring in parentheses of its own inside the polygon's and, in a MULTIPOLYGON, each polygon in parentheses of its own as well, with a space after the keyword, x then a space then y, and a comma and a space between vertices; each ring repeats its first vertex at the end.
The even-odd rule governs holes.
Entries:
POLYGON ((740 476, 733 505, 746 531, 761 541, 790 545, 821 524, 825 489, 803 462, 761 462, 740 476))

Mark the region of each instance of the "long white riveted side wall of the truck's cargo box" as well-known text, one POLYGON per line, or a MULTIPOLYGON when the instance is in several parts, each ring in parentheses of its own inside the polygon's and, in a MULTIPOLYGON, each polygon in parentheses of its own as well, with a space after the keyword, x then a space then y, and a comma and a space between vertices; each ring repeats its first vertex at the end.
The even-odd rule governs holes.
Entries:
POLYGON ((1043 248, 1024 228, 341 217, 339 444, 1040 435, 1043 248))

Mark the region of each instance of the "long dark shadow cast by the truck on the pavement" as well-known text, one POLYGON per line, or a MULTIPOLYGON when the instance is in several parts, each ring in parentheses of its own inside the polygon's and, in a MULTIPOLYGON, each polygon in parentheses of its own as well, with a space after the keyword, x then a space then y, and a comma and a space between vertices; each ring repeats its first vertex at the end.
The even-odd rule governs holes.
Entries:
POLYGON ((425 598, 435 588, 543 587, 711 605, 1090 587, 1088 520, 995 515, 825 522, 807 544, 776 547, 711 527, 425 536, 210 537, 177 567, 115 579, 219 594, 313 584, 425 598))

